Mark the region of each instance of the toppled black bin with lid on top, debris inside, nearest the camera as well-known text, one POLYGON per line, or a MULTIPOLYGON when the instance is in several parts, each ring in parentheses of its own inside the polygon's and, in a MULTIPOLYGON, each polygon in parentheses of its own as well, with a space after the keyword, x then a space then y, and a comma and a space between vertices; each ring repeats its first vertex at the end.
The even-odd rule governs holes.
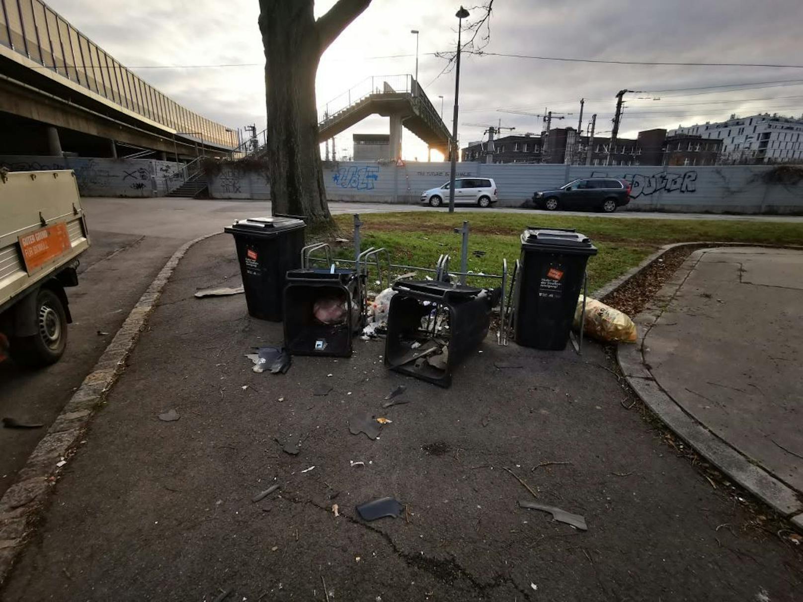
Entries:
POLYGON ((426 280, 396 283, 393 290, 385 365, 448 387, 457 364, 487 336, 501 291, 426 280))

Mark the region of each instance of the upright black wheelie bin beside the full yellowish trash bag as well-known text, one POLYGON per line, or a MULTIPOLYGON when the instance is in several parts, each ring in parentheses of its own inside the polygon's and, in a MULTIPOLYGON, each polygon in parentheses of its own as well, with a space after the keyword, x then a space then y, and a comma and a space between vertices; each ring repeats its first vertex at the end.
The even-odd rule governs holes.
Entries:
POLYGON ((560 351, 569 341, 585 264, 597 247, 575 230, 530 226, 521 234, 514 340, 560 351))

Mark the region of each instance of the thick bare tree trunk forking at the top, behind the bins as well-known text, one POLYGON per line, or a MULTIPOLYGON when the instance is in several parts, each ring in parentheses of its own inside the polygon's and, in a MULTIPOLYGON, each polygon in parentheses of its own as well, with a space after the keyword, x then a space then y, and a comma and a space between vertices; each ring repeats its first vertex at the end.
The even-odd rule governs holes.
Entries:
POLYGON ((265 48, 267 163, 274 214, 331 219, 320 163, 315 78, 320 55, 370 0, 340 0, 316 22, 314 0, 259 0, 265 48))

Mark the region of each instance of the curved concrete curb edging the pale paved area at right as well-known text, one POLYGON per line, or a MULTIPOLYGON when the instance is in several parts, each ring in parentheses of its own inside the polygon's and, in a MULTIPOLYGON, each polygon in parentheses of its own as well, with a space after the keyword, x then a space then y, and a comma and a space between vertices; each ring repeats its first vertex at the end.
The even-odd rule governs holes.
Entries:
MULTIPOLYGON (((718 246, 718 243, 708 244, 718 246)), ((628 384, 638 397, 679 437, 744 489, 790 519, 798 530, 803 531, 803 503, 797 491, 786 486, 768 471, 756 466, 749 458, 687 413, 661 388, 644 361, 643 345, 650 328, 658 321, 706 251, 707 249, 700 249, 689 255, 675 275, 664 283, 653 299, 650 299, 647 307, 636 316, 634 322, 638 326, 638 340, 633 345, 618 346, 619 368, 622 369, 628 384)))

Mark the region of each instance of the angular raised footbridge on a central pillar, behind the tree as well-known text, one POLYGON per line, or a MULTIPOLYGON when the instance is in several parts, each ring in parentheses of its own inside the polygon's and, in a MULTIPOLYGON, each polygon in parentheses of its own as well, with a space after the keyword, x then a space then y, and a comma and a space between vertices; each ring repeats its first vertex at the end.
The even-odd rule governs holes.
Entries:
POLYGON ((444 157, 449 128, 412 75, 373 75, 324 105, 318 124, 320 141, 328 140, 374 113, 390 118, 389 161, 402 157, 402 126, 444 157))

